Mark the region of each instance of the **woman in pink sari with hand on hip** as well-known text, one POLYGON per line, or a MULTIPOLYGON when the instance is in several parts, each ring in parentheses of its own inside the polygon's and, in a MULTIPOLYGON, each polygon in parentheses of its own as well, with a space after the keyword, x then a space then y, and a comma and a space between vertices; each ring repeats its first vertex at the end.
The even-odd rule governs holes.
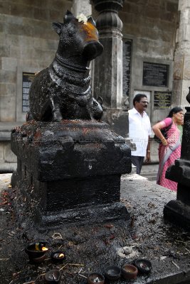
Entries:
POLYGON ((170 190, 177 190, 177 182, 165 178, 167 168, 174 164, 181 155, 181 131, 178 126, 184 124, 184 112, 181 107, 174 107, 169 111, 166 119, 158 122, 152 127, 155 135, 162 141, 159 144, 159 171, 157 174, 157 184, 167 187, 170 190), (161 129, 167 128, 167 138, 161 129))

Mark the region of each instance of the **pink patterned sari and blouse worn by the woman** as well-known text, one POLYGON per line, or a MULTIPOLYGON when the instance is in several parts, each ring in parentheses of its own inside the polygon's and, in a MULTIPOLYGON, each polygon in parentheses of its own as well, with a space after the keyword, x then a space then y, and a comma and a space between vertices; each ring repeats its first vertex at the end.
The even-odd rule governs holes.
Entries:
MULTIPOLYGON (((165 127, 171 124, 171 118, 167 117, 163 120, 165 127)), ((177 126, 172 123, 171 128, 167 131, 167 146, 159 145, 159 171, 157 175, 157 184, 169 188, 169 190, 177 190, 177 182, 165 178, 167 168, 174 164, 175 160, 181 155, 180 131, 177 126)))

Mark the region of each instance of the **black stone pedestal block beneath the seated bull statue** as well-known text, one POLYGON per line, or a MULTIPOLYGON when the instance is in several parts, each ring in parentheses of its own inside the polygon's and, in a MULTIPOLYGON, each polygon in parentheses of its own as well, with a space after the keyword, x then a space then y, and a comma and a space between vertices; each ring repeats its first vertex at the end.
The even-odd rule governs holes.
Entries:
POLYGON ((19 218, 53 227, 128 217, 120 177, 131 171, 130 148, 106 123, 28 121, 12 131, 11 149, 19 218))

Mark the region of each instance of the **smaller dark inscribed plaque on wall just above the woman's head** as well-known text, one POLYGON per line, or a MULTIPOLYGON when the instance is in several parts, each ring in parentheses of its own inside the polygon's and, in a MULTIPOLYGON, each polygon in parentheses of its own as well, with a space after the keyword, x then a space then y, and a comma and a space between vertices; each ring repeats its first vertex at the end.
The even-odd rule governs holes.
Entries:
POLYGON ((154 92, 154 109, 171 107, 171 92, 154 92))

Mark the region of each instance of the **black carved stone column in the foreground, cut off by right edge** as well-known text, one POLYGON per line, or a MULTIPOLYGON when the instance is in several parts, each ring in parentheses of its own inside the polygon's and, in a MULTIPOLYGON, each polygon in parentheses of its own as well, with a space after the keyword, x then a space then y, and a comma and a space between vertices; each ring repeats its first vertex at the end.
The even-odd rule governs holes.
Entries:
MULTIPOLYGON (((186 99, 190 104, 190 87, 186 99)), ((184 116, 181 158, 167 170, 166 177, 178 182, 178 186, 176 200, 164 207, 164 217, 190 230, 190 107, 186 107, 184 116)))

